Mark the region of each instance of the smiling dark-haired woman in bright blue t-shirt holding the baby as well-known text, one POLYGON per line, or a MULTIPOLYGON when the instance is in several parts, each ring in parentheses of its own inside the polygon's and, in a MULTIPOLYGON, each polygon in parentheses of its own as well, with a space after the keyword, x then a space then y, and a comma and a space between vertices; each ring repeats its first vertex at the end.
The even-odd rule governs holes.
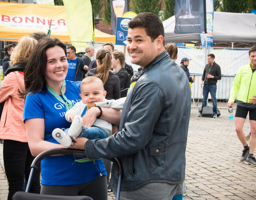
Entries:
MULTIPOLYGON (((65 81, 68 71, 66 55, 66 46, 59 39, 45 37, 38 42, 27 63, 23 120, 34 156, 47 149, 64 148, 53 139, 52 131, 57 127, 70 126, 65 112, 81 100, 80 82, 65 81)), ((99 110, 97 107, 93 109, 94 112, 99 110)), ((107 116, 117 114, 114 109, 102 110, 107 116)), ((86 117, 90 118, 90 112, 86 117)), ((51 156, 43 159, 41 170, 41 194, 107 199, 107 174, 101 159, 78 163, 73 156, 51 156)))

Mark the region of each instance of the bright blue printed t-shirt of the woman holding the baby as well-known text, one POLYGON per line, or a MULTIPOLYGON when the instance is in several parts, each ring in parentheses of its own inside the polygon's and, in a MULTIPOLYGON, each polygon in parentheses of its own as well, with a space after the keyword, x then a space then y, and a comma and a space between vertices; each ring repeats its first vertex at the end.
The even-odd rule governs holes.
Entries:
MULTIPOLYGON (((66 81, 66 97, 73 105, 80 101, 79 85, 66 81)), ((52 137, 52 131, 58 128, 67 129, 70 123, 65 119, 66 106, 59 102, 49 91, 27 95, 23 119, 44 118, 44 140, 58 143, 52 137)), ((25 121, 26 123, 26 121, 25 121)), ((36 134, 36 133, 35 133, 36 134)), ((51 156, 41 162, 42 185, 68 186, 89 182, 107 175, 102 159, 94 162, 77 163, 73 156, 51 156)))

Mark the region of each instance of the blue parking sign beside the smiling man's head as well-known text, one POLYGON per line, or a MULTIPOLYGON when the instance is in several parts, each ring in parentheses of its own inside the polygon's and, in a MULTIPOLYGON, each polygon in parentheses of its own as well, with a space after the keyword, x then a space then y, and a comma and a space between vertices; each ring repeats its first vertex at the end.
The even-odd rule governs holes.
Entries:
POLYGON ((128 23, 132 18, 117 18, 116 20, 116 42, 117 45, 126 46, 128 23))

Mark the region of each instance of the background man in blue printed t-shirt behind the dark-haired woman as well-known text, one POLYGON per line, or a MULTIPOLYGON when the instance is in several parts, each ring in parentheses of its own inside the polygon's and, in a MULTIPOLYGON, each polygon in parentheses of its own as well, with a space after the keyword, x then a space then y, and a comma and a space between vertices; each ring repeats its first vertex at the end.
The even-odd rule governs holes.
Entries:
POLYGON ((85 63, 82 58, 76 57, 75 46, 67 48, 68 57, 68 74, 66 80, 68 81, 82 81, 87 70, 84 69, 85 63))

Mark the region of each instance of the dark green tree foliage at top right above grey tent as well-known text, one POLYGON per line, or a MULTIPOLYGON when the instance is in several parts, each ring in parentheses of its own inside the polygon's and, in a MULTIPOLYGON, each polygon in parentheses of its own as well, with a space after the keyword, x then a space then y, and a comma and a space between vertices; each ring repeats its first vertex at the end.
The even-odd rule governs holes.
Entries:
POLYGON ((248 0, 222 0, 222 4, 220 8, 222 12, 248 12, 248 0))

